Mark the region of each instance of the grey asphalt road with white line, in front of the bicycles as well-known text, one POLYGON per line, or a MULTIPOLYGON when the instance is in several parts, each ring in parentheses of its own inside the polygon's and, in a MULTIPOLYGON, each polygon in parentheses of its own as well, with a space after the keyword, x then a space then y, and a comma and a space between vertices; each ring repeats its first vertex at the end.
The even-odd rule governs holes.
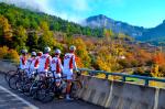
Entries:
POLYGON ((0 109, 102 109, 102 107, 82 100, 66 101, 65 99, 42 103, 10 89, 3 74, 0 73, 0 109))

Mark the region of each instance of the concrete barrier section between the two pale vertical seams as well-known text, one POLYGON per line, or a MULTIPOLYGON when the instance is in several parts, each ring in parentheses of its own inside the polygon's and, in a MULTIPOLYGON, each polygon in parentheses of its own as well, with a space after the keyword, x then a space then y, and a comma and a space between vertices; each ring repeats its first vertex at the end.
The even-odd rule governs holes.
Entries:
POLYGON ((110 109, 154 109, 155 88, 113 83, 112 97, 107 102, 110 109))

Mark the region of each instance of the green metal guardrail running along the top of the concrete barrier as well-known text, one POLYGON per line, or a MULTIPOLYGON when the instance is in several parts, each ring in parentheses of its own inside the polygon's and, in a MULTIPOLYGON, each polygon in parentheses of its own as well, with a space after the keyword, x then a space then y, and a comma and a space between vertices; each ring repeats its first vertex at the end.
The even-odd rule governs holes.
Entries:
POLYGON ((87 69, 87 68, 79 68, 80 72, 88 72, 89 75, 97 75, 97 74, 105 74, 106 78, 109 77, 109 75, 112 76, 121 76, 122 77, 122 81, 127 81, 127 77, 132 77, 132 78, 139 78, 139 79, 143 79, 145 83, 145 86, 148 86, 148 81, 161 81, 161 83, 165 83, 165 79, 161 79, 161 78, 155 78, 155 77, 147 77, 147 76, 139 76, 139 75, 128 75, 128 74, 123 74, 123 73, 108 73, 105 70, 92 70, 92 69, 87 69))

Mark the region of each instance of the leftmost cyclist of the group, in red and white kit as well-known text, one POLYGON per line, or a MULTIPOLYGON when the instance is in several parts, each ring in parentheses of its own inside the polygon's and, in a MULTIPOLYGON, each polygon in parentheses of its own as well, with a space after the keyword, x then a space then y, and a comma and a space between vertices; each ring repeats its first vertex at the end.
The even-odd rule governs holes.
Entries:
POLYGON ((21 51, 22 55, 20 56, 20 69, 25 69, 26 67, 26 54, 28 54, 28 50, 22 50, 21 51))

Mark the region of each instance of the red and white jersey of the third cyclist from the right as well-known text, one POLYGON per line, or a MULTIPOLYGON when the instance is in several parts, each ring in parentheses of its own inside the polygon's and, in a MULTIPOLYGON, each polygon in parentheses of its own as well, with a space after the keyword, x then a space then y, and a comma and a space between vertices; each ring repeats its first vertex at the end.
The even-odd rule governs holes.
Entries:
POLYGON ((51 59, 52 57, 50 54, 43 54, 38 59, 38 72, 48 72, 51 59))

